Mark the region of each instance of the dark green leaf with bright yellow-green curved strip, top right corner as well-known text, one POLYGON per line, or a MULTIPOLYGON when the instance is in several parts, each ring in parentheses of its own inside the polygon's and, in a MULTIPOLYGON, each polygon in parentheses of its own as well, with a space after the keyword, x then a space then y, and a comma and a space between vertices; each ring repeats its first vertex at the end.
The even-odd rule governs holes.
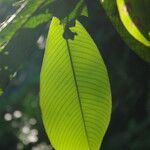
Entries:
MULTIPOLYGON (((142 1, 141 3, 143 3, 144 1, 142 1)), ((148 1, 149 0, 147 0, 147 2, 148 1)), ((133 13, 131 13, 130 16, 128 12, 125 12, 129 10, 131 6, 128 6, 129 8, 126 8, 127 4, 124 3, 124 0, 100 0, 100 2, 106 10, 106 13, 112 21, 114 27, 120 33, 124 41, 138 56, 150 63, 150 41, 148 40, 148 38, 146 38, 147 36, 144 36, 144 32, 137 26, 135 21, 132 20, 133 13)), ((136 4, 137 3, 135 2, 134 5, 136 4)), ((140 6, 138 5, 138 7, 140 6)), ((147 14, 145 13, 145 15, 147 14)), ((148 23, 145 26, 148 26, 148 23)))

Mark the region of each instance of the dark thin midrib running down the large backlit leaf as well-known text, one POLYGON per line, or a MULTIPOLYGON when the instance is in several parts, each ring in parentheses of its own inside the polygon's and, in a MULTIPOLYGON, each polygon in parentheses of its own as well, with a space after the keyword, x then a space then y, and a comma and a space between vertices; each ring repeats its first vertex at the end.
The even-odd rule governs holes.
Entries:
POLYGON ((79 100, 79 107, 80 107, 80 110, 81 110, 81 116, 82 116, 82 119, 83 119, 85 135, 86 135, 86 138, 87 138, 87 143, 88 143, 89 150, 91 150, 90 145, 89 145, 89 140, 88 140, 87 129, 86 129, 86 125, 85 125, 83 109, 82 109, 82 105, 81 105, 81 97, 80 97, 80 92, 79 92, 79 88, 78 88, 78 82, 77 82, 77 79, 76 79, 76 73, 75 73, 75 69, 74 69, 73 59, 72 59, 71 50, 70 50, 70 46, 69 46, 69 41, 67 39, 66 39, 66 45, 67 45, 67 51, 68 51, 70 62, 71 62, 71 68, 72 68, 73 78, 74 78, 76 91, 77 91, 77 96, 78 96, 78 100, 79 100))

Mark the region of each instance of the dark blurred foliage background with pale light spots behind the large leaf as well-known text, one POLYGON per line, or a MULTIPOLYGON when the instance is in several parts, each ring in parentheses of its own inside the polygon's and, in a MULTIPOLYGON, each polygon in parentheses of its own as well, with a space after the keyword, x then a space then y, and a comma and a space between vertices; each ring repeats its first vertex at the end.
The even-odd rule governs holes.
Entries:
MULTIPOLYGON (((17 10, 13 2, 17 1, 0 0, 1 23, 17 10)), ((33 20, 41 20, 41 13, 50 14, 46 4, 31 15, 33 20)), ((90 19, 80 20, 102 50, 112 86, 113 113, 102 150, 149 150, 150 66, 122 41, 98 6, 96 1, 90 3, 90 19)), ((49 27, 49 20, 43 20, 37 25, 30 21, 31 28, 20 28, 0 53, 0 150, 52 149, 38 106, 39 74, 49 27)))

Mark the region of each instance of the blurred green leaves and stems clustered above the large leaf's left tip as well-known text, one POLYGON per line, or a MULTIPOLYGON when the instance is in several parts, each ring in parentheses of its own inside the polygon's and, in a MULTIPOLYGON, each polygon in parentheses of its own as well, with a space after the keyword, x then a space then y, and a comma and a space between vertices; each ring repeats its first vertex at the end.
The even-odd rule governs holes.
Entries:
POLYGON ((48 21, 48 18, 50 19, 51 15, 59 17, 62 21, 70 22, 75 20, 76 17, 82 13, 83 8, 85 8, 84 0, 80 0, 79 2, 69 2, 64 0, 22 1, 18 10, 0 26, 0 51, 5 48, 21 27, 36 27, 37 25, 48 21), (34 16, 39 9, 46 9, 46 7, 50 12, 34 16))

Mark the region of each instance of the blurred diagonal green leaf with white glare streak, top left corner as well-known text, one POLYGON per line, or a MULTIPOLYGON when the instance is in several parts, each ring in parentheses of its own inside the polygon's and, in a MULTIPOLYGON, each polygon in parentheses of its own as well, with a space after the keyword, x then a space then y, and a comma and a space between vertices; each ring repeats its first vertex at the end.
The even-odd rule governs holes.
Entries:
MULTIPOLYGON (((26 23, 30 16, 46 0, 26 0, 20 8, 0 26, 0 51, 2 51, 15 33, 26 23)), ((52 0, 48 0, 51 1, 52 0)))

